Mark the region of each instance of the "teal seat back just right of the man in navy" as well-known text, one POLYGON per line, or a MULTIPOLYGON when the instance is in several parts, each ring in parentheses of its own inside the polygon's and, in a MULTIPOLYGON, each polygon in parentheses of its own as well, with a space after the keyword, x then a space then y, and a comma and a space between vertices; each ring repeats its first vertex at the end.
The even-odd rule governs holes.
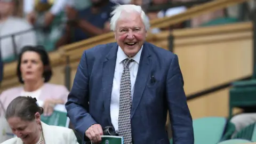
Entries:
MULTIPOLYGON (((216 144, 227 126, 225 117, 204 117, 193 120, 195 144, 216 144)), ((172 143, 172 139, 170 140, 172 143)))

